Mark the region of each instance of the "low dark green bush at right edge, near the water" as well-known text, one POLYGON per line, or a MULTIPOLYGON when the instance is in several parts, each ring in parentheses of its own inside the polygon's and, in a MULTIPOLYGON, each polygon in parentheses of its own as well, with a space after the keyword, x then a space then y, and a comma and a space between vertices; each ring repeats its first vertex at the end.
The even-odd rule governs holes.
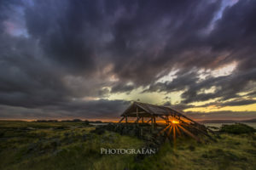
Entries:
POLYGON ((241 134, 241 133, 254 133, 255 129, 246 124, 235 123, 232 125, 222 125, 219 131, 223 133, 241 134))

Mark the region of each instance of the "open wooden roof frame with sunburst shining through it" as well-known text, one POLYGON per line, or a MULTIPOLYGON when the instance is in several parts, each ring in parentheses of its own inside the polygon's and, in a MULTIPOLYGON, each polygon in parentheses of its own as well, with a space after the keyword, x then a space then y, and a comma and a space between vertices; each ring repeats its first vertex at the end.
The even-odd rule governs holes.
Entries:
POLYGON ((189 117, 184 116, 182 113, 175 111, 170 107, 134 102, 121 116, 122 118, 119 123, 125 122, 126 124, 130 124, 128 122, 131 121, 128 120, 128 118, 130 117, 131 119, 131 117, 133 117, 133 119, 136 119, 133 123, 136 123, 137 126, 150 123, 152 131, 156 130, 159 134, 164 133, 166 138, 169 139, 170 135, 173 136, 173 139, 176 139, 177 135, 182 134, 189 135, 198 142, 201 142, 198 134, 203 134, 211 138, 207 133, 207 130, 209 130, 207 127, 193 121, 189 117), (159 118, 161 122, 157 122, 157 118, 159 118))

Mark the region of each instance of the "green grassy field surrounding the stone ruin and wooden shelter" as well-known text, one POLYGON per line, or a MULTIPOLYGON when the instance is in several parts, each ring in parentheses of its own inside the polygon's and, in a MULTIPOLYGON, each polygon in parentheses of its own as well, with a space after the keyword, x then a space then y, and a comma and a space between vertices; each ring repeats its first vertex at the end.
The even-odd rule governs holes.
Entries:
POLYGON ((90 133, 83 122, 0 122, 0 169, 256 169, 256 135, 222 133, 217 142, 177 139, 157 154, 101 155, 101 148, 143 147, 118 133, 90 133))

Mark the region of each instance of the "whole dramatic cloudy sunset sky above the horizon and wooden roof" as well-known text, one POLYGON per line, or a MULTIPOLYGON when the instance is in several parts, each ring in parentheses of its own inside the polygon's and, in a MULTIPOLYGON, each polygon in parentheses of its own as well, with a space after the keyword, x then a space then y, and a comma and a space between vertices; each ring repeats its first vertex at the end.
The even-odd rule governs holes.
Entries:
POLYGON ((256 118, 255 20, 254 0, 0 0, 0 118, 256 118))

